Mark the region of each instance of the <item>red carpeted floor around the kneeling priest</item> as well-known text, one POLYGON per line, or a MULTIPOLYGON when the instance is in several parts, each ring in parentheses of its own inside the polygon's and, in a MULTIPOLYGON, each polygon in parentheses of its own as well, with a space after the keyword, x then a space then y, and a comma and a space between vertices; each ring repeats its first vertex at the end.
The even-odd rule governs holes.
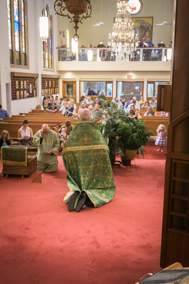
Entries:
POLYGON ((58 171, 43 174, 42 184, 0 175, 0 283, 134 284, 158 271, 165 153, 154 142, 145 148, 137 172, 113 167, 110 203, 79 213, 63 202, 61 152, 58 171))

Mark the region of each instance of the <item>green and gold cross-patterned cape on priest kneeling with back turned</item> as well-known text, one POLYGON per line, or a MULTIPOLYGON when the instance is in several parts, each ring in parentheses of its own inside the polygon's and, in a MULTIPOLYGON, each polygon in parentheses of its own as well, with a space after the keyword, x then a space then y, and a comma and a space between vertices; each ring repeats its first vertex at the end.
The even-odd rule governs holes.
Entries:
POLYGON ((62 158, 71 191, 84 190, 94 207, 113 199, 116 185, 109 148, 92 122, 75 124, 63 148, 62 158))

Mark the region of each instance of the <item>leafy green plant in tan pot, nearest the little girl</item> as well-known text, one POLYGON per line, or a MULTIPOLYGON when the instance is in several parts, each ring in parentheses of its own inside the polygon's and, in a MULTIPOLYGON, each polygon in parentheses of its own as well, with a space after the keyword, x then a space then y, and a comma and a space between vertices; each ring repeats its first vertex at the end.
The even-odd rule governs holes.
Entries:
POLYGON ((151 131, 146 132, 144 123, 145 121, 139 119, 120 123, 117 131, 119 136, 117 146, 122 153, 122 160, 129 160, 127 163, 130 163, 139 154, 139 150, 144 158, 145 149, 143 146, 148 144, 148 139, 153 135, 151 131))

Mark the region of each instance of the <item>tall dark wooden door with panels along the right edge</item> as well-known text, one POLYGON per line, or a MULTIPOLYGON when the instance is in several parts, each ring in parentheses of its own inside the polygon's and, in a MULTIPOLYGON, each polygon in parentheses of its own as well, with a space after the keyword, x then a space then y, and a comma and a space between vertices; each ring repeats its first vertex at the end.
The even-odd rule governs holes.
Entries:
POLYGON ((183 33, 183 19, 185 26, 189 24, 188 10, 188 0, 175 0, 160 260, 163 268, 174 262, 189 266, 189 39, 183 33))

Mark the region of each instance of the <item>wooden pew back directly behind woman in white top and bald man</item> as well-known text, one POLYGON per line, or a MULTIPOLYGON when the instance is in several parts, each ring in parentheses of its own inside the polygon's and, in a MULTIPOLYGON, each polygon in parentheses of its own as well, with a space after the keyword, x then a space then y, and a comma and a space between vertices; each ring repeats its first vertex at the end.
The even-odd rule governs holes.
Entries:
MULTIPOLYGON (((18 139, 18 130, 21 128, 22 124, 20 123, 0 123, 0 133, 3 130, 7 130, 10 135, 10 139, 18 139)), ((41 124, 29 124, 29 127, 33 131, 33 135, 41 129, 41 124)), ((58 126, 56 124, 49 124, 50 129, 58 133, 58 126)))

